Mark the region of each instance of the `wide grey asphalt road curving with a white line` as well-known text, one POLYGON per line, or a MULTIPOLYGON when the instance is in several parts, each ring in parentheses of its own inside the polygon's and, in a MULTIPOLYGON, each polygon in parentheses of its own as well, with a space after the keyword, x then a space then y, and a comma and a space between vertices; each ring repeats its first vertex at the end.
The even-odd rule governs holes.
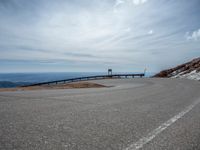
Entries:
POLYGON ((199 82, 95 82, 112 87, 1 92, 0 149, 200 149, 199 82))

